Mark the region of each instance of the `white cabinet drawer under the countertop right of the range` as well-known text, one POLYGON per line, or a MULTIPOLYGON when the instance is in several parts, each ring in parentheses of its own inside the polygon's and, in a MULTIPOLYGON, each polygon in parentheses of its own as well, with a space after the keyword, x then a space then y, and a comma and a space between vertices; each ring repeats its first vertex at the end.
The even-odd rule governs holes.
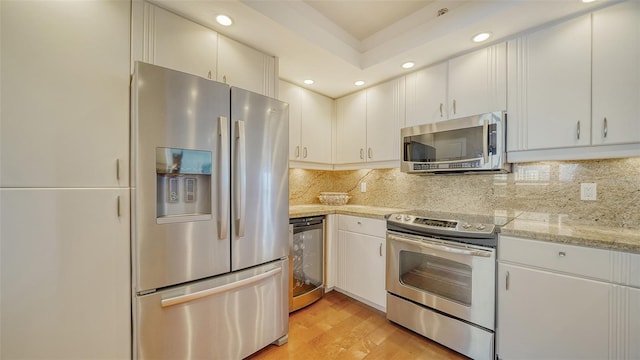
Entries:
POLYGON ((498 259, 594 279, 611 280, 611 252, 608 250, 501 236, 498 259))

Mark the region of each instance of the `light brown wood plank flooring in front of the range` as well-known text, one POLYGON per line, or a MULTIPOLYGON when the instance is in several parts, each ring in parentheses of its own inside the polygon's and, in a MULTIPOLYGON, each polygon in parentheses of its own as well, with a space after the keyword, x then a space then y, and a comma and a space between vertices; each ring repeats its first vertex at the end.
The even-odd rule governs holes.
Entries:
POLYGON ((269 345, 251 360, 467 359, 385 318, 384 313, 331 291, 289 317, 289 342, 269 345))

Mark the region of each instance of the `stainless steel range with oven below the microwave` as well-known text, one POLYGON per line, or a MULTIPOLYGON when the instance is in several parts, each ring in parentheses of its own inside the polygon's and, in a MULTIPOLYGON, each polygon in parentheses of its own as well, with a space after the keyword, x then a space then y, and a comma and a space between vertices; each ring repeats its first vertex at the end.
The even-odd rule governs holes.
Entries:
POLYGON ((387 319, 474 359, 494 357, 497 233, 510 218, 387 217, 387 319))

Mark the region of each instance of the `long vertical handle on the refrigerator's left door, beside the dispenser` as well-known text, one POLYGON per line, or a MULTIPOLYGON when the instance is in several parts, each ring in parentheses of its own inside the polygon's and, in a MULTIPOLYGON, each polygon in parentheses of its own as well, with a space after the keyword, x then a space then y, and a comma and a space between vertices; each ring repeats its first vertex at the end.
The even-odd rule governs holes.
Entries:
POLYGON ((220 137, 218 239, 225 240, 229 230, 229 121, 226 116, 218 117, 218 136, 220 137))

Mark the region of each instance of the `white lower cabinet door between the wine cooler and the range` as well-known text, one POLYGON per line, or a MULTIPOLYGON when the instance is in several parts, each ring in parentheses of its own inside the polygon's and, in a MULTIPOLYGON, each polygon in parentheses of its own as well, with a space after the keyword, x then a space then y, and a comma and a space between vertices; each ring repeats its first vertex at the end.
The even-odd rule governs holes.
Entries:
POLYGON ((338 241, 338 287, 385 309, 385 239, 340 230, 338 241))

